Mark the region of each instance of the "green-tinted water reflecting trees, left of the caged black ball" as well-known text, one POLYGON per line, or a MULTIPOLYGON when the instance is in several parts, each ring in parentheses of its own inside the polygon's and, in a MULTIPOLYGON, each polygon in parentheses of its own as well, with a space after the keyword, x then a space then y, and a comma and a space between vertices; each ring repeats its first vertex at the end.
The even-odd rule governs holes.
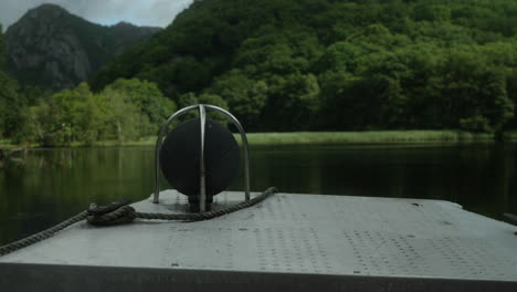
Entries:
POLYGON ((28 152, 23 164, 0 169, 0 242, 60 222, 92 201, 145 199, 152 191, 152 154, 131 147, 28 152))

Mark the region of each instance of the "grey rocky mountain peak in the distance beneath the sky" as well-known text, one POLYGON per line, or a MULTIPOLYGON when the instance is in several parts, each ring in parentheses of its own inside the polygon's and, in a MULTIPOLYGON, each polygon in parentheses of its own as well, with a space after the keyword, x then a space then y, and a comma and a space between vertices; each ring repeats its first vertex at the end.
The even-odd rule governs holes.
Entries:
POLYGON ((7 30, 8 67, 21 83, 70 88, 158 30, 125 22, 103 27, 43 4, 7 30))

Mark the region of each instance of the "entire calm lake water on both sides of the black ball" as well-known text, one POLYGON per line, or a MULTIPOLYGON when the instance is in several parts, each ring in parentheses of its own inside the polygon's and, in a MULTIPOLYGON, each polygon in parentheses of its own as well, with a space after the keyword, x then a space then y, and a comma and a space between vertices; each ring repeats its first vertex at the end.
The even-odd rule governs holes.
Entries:
MULTIPOLYGON (((256 191, 442 199, 498 220, 517 213, 517 144, 257 146, 251 157, 256 191)), ((240 176, 231 189, 242 185, 240 176)), ((89 202, 141 200, 152 189, 154 147, 20 153, 0 167, 0 244, 89 202)))

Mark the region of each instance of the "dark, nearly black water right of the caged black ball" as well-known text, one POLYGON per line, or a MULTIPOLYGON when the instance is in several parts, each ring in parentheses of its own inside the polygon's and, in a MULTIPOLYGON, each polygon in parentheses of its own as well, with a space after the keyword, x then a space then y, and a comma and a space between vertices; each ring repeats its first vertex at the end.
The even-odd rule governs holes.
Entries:
POLYGON ((252 149, 252 188, 442 199, 500 218, 517 212, 516 150, 495 144, 252 149))

